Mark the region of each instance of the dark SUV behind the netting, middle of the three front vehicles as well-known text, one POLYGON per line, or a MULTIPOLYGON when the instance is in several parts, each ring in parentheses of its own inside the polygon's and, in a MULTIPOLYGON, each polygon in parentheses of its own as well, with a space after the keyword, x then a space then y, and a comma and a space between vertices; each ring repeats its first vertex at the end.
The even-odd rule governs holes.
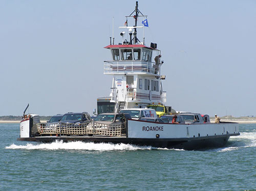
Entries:
POLYGON ((62 116, 60 123, 79 124, 79 123, 90 122, 90 121, 92 121, 92 119, 87 112, 82 112, 82 113, 68 112, 62 116))

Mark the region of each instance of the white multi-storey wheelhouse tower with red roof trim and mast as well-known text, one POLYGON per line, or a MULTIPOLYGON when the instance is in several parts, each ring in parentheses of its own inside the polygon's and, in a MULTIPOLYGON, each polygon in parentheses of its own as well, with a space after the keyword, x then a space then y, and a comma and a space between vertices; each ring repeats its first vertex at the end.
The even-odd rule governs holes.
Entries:
MULTIPOLYGON (((145 108, 149 104, 165 104, 166 92, 162 89, 161 51, 156 43, 146 46, 137 38, 137 20, 141 12, 137 6, 130 16, 135 19, 135 26, 120 27, 127 30, 130 40, 105 46, 112 55, 112 60, 104 61, 104 74, 112 75, 110 102, 115 103, 115 112, 126 108, 145 108), (135 15, 132 15, 132 14, 135 15)), ((142 15, 142 14, 141 14, 142 15)), ((142 15, 142 18, 145 18, 142 15)), ((141 24, 142 25, 142 24, 141 24)), ((125 32, 121 32, 123 37, 125 32)), ((127 37, 129 37, 127 35, 127 37)))

